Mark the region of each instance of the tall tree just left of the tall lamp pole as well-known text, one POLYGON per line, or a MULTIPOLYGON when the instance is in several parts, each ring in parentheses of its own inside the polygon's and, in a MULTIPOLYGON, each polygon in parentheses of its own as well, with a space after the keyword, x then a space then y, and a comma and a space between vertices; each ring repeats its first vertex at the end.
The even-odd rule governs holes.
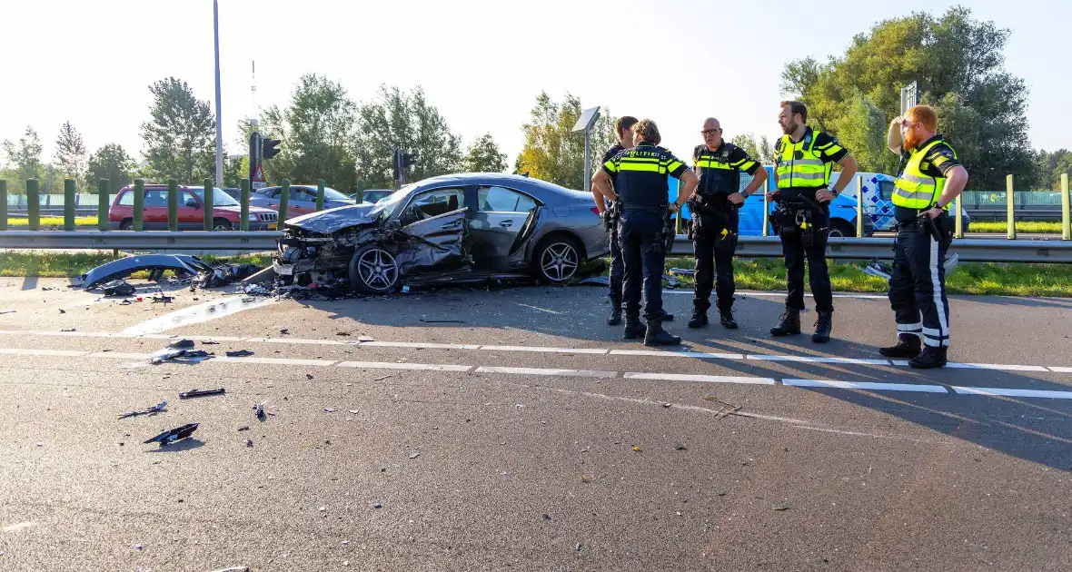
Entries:
POLYGON ((215 172, 215 120, 208 102, 194 96, 185 81, 174 77, 149 86, 150 120, 142 124, 145 156, 157 178, 181 183, 211 178, 215 172))

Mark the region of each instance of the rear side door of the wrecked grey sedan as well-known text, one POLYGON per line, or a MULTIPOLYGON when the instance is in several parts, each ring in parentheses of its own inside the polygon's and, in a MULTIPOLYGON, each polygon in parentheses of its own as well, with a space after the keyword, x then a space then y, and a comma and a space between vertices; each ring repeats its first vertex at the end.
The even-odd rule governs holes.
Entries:
POLYGON ((488 185, 476 190, 473 260, 477 268, 505 272, 510 269, 513 245, 536 209, 536 200, 519 191, 488 185))

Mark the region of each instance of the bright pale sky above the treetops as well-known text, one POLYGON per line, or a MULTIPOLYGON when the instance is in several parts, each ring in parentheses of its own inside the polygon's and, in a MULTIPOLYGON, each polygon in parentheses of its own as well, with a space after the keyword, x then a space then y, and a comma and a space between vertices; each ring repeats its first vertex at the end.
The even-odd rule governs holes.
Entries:
MULTIPOLYGON (((1006 66, 1030 89, 1031 144, 1072 148, 1064 132, 1072 81, 1058 56, 1072 2, 965 3, 977 19, 1013 31, 1006 66)), ((727 138, 776 137, 787 61, 840 55, 880 19, 946 7, 921 0, 220 0, 224 141, 229 153, 243 152, 236 125, 253 112, 256 60, 258 106, 286 104, 308 72, 341 81, 357 101, 372 99, 381 84, 420 85, 465 144, 490 132, 511 165, 540 90, 654 119, 664 146, 688 155, 709 116, 721 120, 727 138), (800 6, 807 12, 796 17, 800 6)), ((3 15, 0 139, 33 125, 47 159, 68 120, 90 151, 115 141, 137 156, 147 87, 161 78, 178 77, 213 100, 211 0, 9 0, 3 15)))

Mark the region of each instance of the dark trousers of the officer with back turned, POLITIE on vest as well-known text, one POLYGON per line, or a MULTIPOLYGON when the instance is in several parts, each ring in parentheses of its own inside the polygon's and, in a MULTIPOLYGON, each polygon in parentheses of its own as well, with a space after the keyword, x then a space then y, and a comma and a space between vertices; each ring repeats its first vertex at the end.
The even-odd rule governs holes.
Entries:
POLYGON ((643 277, 644 318, 660 319, 662 312, 662 269, 666 253, 662 217, 653 211, 630 209, 622 212, 617 236, 625 274, 622 295, 627 318, 640 316, 640 287, 643 277))

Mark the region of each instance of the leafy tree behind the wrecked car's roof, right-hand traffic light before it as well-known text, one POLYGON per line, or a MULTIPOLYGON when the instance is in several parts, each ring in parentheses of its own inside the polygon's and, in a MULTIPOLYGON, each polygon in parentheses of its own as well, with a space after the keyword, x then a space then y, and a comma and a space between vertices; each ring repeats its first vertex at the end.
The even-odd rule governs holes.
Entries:
POLYGON ((405 93, 381 86, 378 97, 360 108, 354 156, 368 187, 391 186, 394 149, 417 155, 408 181, 458 172, 462 165, 460 138, 420 87, 405 93))

